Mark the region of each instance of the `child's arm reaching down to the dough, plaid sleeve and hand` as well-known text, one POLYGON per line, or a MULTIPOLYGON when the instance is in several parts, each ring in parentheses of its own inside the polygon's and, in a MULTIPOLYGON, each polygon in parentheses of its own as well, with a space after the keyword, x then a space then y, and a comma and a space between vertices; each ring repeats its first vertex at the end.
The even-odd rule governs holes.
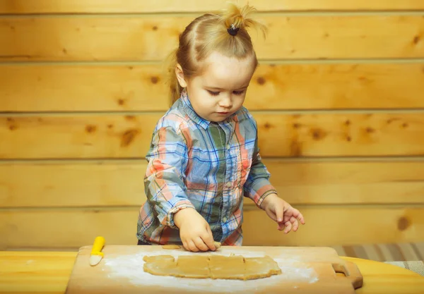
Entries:
POLYGON ((184 135, 170 126, 158 128, 146 159, 146 196, 160 223, 179 228, 187 250, 215 250, 211 228, 185 193, 188 154, 184 135))

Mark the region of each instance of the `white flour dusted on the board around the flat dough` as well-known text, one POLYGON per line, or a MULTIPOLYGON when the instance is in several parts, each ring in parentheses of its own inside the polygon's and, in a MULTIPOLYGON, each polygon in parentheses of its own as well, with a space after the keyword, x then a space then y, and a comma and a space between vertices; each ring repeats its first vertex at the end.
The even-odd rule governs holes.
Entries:
MULTIPOLYGON (((157 250, 155 252, 141 252, 129 255, 114 255, 110 253, 103 259, 108 278, 126 278, 134 286, 162 286, 170 288, 181 288, 188 290, 209 290, 218 292, 241 292, 245 290, 264 289, 266 286, 272 286, 276 283, 287 281, 290 283, 307 282, 316 283, 318 281, 317 273, 313 268, 308 268, 306 264, 288 257, 278 257, 274 260, 283 271, 283 274, 271 276, 269 278, 259 278, 256 280, 240 281, 212 280, 209 278, 176 278, 174 276, 154 276, 143 271, 143 257, 146 255, 172 255, 178 257, 181 255, 192 255, 192 252, 176 250, 157 250), (213 287, 211 287, 213 285, 213 287)), ((244 257, 263 257, 265 252, 249 252, 243 250, 226 249, 221 252, 198 252, 198 255, 223 255, 231 254, 243 255, 244 257)))

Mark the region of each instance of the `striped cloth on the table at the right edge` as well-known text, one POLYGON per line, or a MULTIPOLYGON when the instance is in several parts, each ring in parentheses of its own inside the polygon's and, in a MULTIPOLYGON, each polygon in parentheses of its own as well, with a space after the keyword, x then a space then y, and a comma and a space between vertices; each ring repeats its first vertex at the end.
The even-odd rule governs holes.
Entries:
POLYGON ((336 245, 338 255, 375 260, 403 267, 424 276, 424 242, 336 245))

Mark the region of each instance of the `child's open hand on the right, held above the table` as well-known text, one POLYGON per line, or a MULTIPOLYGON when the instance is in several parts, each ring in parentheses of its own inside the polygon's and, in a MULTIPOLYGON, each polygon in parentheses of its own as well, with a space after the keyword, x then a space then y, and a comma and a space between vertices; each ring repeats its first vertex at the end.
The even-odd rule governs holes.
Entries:
POLYGON ((271 219, 278 223, 278 230, 282 231, 285 226, 285 234, 290 232, 292 228, 293 232, 298 231, 299 221, 305 224, 305 220, 298 209, 291 207, 276 194, 266 196, 261 207, 264 208, 271 219))

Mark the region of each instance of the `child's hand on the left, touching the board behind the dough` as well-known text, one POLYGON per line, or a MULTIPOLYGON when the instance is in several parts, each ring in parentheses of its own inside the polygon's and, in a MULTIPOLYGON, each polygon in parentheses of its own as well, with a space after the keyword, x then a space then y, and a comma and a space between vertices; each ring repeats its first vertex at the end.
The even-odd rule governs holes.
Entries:
POLYGON ((194 252, 216 250, 209 223, 195 209, 180 210, 175 214, 174 221, 186 250, 194 252))

